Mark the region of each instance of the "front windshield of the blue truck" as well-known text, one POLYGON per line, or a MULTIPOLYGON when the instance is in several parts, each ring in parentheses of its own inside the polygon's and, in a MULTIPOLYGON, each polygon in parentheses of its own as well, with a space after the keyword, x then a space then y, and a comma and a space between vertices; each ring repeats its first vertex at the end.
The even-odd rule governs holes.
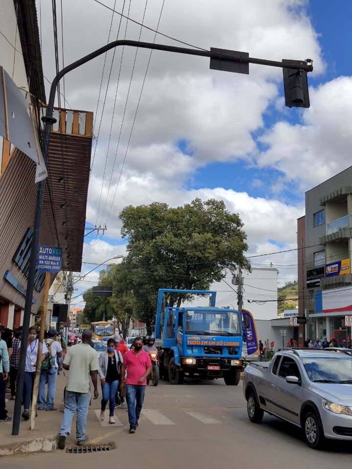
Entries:
POLYGON ((186 311, 186 334, 241 335, 240 315, 233 311, 186 311))

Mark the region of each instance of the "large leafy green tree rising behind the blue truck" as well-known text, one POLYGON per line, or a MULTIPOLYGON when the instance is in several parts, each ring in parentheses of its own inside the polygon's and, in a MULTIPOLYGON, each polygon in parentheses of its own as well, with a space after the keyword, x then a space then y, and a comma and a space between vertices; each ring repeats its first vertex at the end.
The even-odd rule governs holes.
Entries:
MULTIPOLYGON (((237 213, 222 201, 195 199, 170 208, 154 202, 128 206, 120 213, 127 256, 121 268, 125 289, 133 292, 138 319, 153 327, 159 288, 206 290, 220 281, 225 269, 250 270, 244 257, 248 246, 237 213)), ((181 304, 193 295, 169 295, 167 305, 181 304)))

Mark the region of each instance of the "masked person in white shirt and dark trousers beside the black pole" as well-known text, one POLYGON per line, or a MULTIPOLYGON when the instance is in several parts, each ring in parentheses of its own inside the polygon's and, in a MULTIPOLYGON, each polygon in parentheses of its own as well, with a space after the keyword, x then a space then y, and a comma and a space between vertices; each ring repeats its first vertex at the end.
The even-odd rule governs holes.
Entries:
MULTIPOLYGON (((29 328, 28 332, 27 352, 24 365, 24 384, 22 398, 24 407, 22 417, 24 420, 29 420, 29 406, 31 404, 33 395, 33 384, 37 364, 38 344, 39 340, 37 339, 37 328, 35 326, 32 326, 29 328)), ((43 362, 47 351, 48 350, 46 348, 46 345, 45 343, 43 343, 41 362, 43 362)))

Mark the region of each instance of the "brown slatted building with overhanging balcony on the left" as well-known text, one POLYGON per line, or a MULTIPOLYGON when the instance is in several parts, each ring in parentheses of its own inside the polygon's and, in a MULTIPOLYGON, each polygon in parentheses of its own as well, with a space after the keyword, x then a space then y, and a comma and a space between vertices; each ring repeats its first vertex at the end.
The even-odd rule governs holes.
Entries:
MULTIPOLYGON (((41 125, 39 117, 45 113, 46 97, 35 0, 2 0, 1 5, 1 65, 23 90, 41 125)), ((55 118, 39 244, 61 247, 63 269, 79 272, 93 113, 56 108, 55 118)), ((41 130, 38 136, 41 140, 41 130)), ((37 196, 35 173, 34 161, 0 137, 0 321, 10 328, 18 327, 23 319, 37 196)), ((51 281, 54 279, 52 275, 51 281)), ((43 287, 44 274, 37 271, 32 323, 42 305, 43 287)))

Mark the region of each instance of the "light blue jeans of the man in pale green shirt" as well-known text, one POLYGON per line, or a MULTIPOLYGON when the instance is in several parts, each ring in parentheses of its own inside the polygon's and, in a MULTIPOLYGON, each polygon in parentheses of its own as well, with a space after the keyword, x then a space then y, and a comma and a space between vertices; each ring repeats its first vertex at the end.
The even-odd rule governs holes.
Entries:
POLYGON ((65 394, 64 418, 61 422, 60 436, 67 436, 71 432, 72 418, 76 413, 77 441, 86 438, 86 423, 90 401, 90 392, 67 391, 65 394))

